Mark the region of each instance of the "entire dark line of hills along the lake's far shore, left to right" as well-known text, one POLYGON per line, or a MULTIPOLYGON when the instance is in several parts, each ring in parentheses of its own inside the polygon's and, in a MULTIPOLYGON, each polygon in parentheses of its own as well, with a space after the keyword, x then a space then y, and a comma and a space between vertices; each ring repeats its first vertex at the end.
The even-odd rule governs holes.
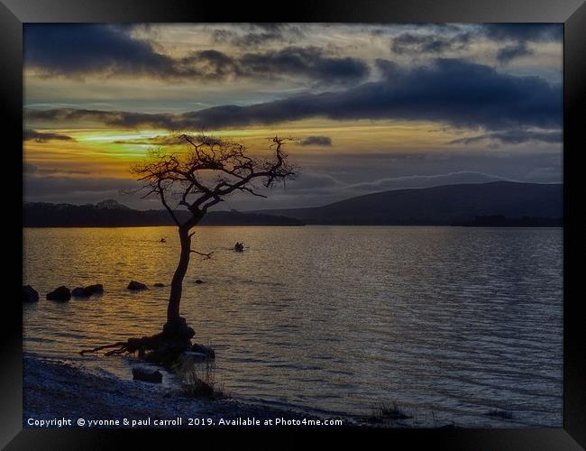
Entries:
MULTIPOLYGON (((180 219, 187 212, 178 211, 180 219)), ((563 185, 496 181, 395 189, 324 207, 213 211, 207 226, 562 226, 563 185)), ((165 210, 134 210, 107 199, 97 205, 26 202, 23 226, 173 226, 165 210)))

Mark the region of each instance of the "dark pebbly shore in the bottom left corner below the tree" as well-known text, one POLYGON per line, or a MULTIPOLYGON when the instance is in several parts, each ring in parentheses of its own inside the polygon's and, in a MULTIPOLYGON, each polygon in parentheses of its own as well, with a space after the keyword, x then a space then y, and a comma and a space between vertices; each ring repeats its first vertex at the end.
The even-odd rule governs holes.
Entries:
POLYGON ((23 355, 23 428, 358 426, 341 418, 341 424, 323 424, 330 419, 231 398, 192 399, 160 384, 98 376, 74 364, 23 355))

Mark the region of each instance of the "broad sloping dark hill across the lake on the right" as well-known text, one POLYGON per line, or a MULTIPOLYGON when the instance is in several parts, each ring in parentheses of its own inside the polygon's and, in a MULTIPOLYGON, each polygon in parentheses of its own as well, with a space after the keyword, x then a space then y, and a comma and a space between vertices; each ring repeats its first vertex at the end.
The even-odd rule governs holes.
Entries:
POLYGON ((531 226, 563 218, 563 185, 495 181, 425 189, 395 189, 325 207, 261 210, 324 225, 531 226), (477 219, 502 216, 500 220, 477 219), (511 219, 528 218, 523 221, 511 219), (529 219, 535 219, 532 221, 529 219))

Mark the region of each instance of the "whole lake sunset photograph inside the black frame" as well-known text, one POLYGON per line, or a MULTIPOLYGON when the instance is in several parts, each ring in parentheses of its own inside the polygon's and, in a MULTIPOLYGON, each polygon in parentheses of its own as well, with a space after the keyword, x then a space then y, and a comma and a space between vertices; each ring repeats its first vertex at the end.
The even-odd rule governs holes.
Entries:
POLYGON ((562 428, 562 23, 25 23, 24 428, 562 428))

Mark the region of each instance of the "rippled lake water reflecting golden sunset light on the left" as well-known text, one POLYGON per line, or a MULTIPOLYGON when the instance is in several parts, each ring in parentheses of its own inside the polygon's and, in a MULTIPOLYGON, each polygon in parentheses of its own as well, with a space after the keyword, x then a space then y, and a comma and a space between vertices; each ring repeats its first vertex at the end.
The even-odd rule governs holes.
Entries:
MULTIPOLYGON (((23 235, 23 282, 41 296, 23 306, 24 350, 131 378, 133 359, 78 351, 160 331, 169 288, 152 284, 171 279, 175 229, 23 235), (93 283, 102 297, 44 299, 93 283)), ((413 426, 562 427, 562 229, 207 226, 194 240, 214 256, 194 254, 181 314, 234 398, 348 415, 396 401, 413 426)))

